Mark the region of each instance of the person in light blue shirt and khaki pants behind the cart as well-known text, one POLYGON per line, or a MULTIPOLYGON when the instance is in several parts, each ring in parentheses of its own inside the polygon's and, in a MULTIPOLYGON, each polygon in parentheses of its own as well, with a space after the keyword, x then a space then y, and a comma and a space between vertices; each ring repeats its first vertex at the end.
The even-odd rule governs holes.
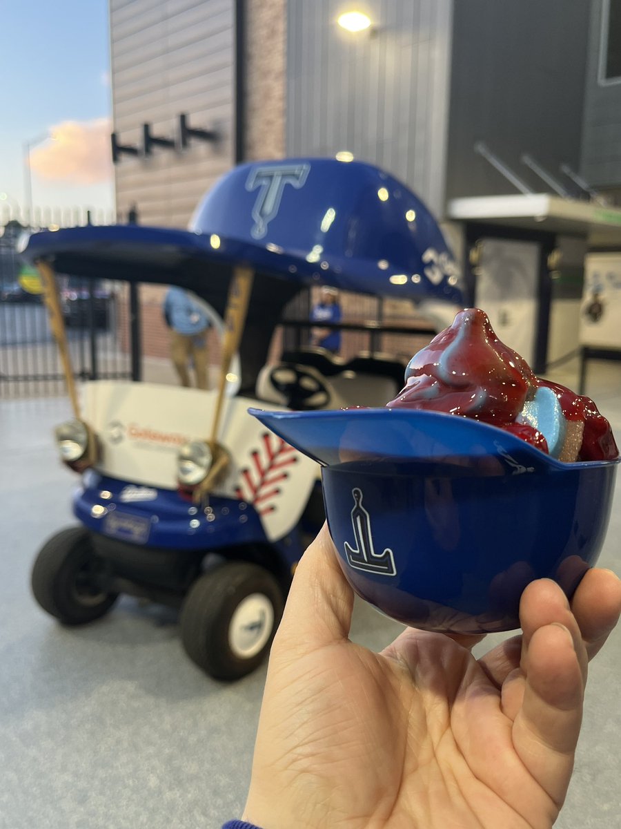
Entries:
POLYGON ((209 318, 190 296, 176 285, 164 298, 164 318, 171 329, 171 360, 181 385, 190 386, 188 368, 194 366, 196 387, 207 389, 207 329, 209 318))

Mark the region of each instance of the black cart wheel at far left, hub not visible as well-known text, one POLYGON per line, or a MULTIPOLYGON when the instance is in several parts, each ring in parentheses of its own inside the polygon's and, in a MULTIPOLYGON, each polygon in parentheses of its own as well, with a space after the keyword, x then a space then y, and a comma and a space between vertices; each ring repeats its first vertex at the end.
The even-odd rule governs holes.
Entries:
POLYGON ((60 622, 83 624, 108 613, 118 594, 101 588, 106 563, 93 550, 89 531, 75 526, 52 536, 32 567, 32 593, 60 622))

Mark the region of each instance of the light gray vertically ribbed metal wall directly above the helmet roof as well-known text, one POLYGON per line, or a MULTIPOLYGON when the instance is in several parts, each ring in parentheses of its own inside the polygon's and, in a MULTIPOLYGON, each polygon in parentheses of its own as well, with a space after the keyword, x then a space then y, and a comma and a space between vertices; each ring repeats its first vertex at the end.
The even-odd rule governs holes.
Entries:
POLYGON ((444 209, 452 0, 369 0, 375 31, 336 25, 340 0, 289 0, 286 153, 349 150, 444 209))

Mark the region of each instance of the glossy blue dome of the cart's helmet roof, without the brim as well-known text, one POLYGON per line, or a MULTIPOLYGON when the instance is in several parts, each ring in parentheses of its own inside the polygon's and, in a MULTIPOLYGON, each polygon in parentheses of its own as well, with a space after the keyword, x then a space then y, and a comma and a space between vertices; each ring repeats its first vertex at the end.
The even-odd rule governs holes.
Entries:
POLYGON ((459 269, 422 201, 370 164, 293 158, 235 167, 190 230, 255 266, 347 290, 460 303, 459 269))

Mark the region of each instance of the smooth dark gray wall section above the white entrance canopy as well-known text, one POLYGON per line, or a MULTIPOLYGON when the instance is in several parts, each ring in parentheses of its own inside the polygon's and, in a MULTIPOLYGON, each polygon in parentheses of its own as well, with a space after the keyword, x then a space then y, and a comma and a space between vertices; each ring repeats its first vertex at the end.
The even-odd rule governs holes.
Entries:
POLYGON ((578 168, 589 17, 588 0, 455 3, 448 198, 515 191, 479 140, 533 191, 546 185, 522 153, 570 184, 559 166, 578 168))

